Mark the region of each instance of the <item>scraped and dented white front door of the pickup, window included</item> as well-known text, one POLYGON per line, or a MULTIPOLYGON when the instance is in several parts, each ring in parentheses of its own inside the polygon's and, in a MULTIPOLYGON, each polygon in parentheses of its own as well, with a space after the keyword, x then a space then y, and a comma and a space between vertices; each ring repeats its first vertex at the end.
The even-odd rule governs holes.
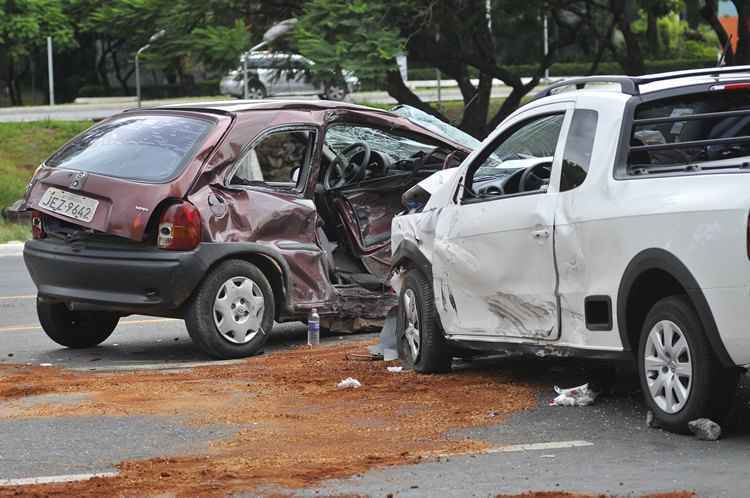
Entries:
POLYGON ((569 104, 515 117, 465 167, 436 226, 436 307, 448 335, 559 337, 554 214, 569 104))

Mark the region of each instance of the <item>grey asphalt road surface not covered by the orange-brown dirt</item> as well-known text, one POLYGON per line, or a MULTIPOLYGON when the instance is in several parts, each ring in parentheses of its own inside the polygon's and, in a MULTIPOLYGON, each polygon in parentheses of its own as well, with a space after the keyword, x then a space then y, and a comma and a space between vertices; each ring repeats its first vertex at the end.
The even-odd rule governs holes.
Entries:
MULTIPOLYGON (((0 251, 0 363, 53 363, 75 369, 186 368, 208 361, 176 320, 130 317, 102 346, 61 349, 40 330, 34 286, 20 255, 0 251)), ((355 338, 359 339, 361 336, 355 338)), ((367 338, 370 336, 364 336, 367 338)), ((328 340, 337 340, 329 337, 328 340)), ((269 349, 304 340, 299 324, 275 329, 269 349)), ((296 495, 399 497, 494 496, 525 491, 637 495, 692 490, 698 496, 748 496, 750 382, 737 395, 732 423, 718 442, 673 435, 645 424, 637 378, 618 368, 613 392, 585 408, 549 407, 552 386, 595 380, 594 365, 560 359, 483 360, 488 371, 510 369, 543 393, 536 409, 487 427, 460 431, 492 444, 490 453, 432 459, 374 470, 296 495)), ((24 403, 75 403, 76 395, 42 395, 24 403)), ((122 460, 201 451, 241 429, 190 425, 179 417, 3 418, 0 403, 0 485, 25 479, 114 470, 122 460)))

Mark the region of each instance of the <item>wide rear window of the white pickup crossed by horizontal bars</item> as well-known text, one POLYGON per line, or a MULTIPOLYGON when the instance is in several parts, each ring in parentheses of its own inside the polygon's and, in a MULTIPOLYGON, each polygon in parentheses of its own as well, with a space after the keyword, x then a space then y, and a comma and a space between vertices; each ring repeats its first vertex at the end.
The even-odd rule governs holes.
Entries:
POLYGON ((631 173, 742 167, 750 161, 750 92, 714 91, 640 104, 630 136, 631 173))

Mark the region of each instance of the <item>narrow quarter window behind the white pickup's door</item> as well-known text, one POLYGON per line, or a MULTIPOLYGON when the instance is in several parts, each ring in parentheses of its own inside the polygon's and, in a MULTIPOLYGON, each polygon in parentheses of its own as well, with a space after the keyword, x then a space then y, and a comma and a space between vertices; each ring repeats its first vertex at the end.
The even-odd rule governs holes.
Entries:
POLYGON ((599 113, 589 109, 576 109, 573 113, 563 154, 560 192, 573 190, 586 179, 598 120, 599 113))

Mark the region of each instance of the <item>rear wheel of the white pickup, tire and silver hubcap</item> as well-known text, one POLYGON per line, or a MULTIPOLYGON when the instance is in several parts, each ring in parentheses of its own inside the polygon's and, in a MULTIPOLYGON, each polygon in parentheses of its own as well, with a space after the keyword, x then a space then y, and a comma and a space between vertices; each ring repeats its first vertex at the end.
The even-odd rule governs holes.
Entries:
POLYGON ((716 359, 686 296, 664 298, 651 308, 641 331, 637 361, 646 404, 660 427, 684 434, 689 432, 688 422, 697 418, 723 423, 736 393, 739 370, 726 368, 716 359))

